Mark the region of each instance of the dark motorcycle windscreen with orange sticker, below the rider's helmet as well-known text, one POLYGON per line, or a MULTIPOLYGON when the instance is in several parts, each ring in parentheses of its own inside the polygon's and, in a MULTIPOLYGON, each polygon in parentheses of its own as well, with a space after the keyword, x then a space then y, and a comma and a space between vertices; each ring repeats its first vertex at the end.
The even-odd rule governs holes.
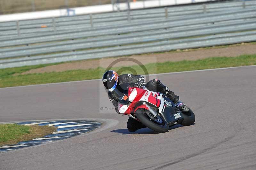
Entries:
POLYGON ((128 103, 128 89, 129 83, 119 84, 113 91, 114 95, 118 98, 118 102, 127 104, 128 103))

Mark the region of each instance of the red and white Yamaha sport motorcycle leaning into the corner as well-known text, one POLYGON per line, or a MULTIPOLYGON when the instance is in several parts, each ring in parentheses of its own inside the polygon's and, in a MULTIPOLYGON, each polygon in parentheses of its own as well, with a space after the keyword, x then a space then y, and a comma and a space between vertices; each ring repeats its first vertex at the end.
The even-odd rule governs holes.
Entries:
POLYGON ((144 86, 131 88, 123 84, 122 90, 118 91, 121 101, 119 112, 158 133, 167 132, 174 124, 189 126, 195 122, 195 114, 180 100, 174 104, 164 94, 150 91, 144 86))

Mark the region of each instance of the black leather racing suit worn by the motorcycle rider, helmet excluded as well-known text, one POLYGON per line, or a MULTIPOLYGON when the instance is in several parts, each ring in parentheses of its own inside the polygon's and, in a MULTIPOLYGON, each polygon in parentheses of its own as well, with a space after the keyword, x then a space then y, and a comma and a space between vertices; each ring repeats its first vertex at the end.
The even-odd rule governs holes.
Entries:
MULTIPOLYGON (((145 80, 142 75, 132 75, 132 74, 122 74, 118 78, 117 86, 120 84, 129 83, 132 87, 138 87, 145 85, 145 80)), ((145 85, 148 90, 154 91, 154 92, 160 92, 163 94, 166 94, 167 97, 169 97, 172 101, 175 103, 179 100, 179 96, 176 96, 172 91, 168 89, 168 87, 164 86, 158 79, 153 79, 148 81, 148 83, 145 85)), ((118 88, 118 87, 117 87, 118 88)), ((115 93, 108 92, 108 97, 112 104, 114 105, 116 112, 118 112, 118 97, 115 96, 115 93)), ((129 117, 127 122, 127 128, 129 131, 136 131, 140 128, 144 128, 145 126, 142 125, 139 121, 132 119, 129 117)))

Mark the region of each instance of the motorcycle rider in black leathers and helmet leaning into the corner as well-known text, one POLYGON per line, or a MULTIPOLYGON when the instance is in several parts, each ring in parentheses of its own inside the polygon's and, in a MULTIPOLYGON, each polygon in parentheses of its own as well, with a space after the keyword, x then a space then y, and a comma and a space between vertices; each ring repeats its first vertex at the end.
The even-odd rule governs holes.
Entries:
MULTIPOLYGON (((148 90, 154 92, 160 92, 165 94, 168 98, 170 98, 174 103, 179 101, 179 96, 176 96, 168 87, 164 86, 158 79, 153 79, 145 82, 145 79, 142 75, 133 75, 133 74, 122 74, 118 75, 115 71, 109 70, 103 74, 102 77, 103 85, 108 90, 108 97, 111 103, 114 105, 115 110, 118 112, 118 102, 119 99, 114 93, 115 89, 120 89, 119 86, 124 83, 129 83, 131 87, 141 87, 146 86, 148 90)), ((126 99, 124 99, 126 100, 126 99)), ((132 118, 128 119, 127 128, 130 132, 134 132, 140 128, 145 128, 145 126, 132 118)))

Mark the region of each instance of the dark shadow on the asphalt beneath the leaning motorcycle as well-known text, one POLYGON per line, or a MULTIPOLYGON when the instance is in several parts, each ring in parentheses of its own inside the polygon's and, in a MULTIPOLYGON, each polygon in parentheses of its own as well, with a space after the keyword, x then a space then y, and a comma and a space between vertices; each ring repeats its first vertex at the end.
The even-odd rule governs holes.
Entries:
MULTIPOLYGON (((169 130, 180 128, 182 125, 177 124, 169 128, 169 130)), ((129 132, 128 129, 116 129, 112 130, 111 132, 120 133, 122 135, 128 135, 128 134, 143 134, 143 135, 150 135, 150 134, 157 134, 157 132, 149 129, 149 128, 141 128, 139 130, 136 130, 136 132, 129 132)))

